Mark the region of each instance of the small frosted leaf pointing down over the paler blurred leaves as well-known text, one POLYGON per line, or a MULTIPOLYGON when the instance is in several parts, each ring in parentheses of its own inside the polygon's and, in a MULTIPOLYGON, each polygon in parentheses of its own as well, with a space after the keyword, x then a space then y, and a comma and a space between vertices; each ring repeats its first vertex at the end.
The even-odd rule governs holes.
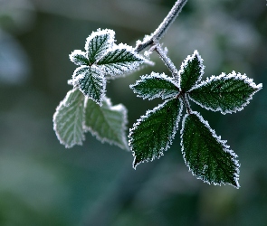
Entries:
POLYGON ((81 66, 73 73, 73 84, 83 95, 101 105, 106 89, 106 80, 101 71, 94 66, 81 66))

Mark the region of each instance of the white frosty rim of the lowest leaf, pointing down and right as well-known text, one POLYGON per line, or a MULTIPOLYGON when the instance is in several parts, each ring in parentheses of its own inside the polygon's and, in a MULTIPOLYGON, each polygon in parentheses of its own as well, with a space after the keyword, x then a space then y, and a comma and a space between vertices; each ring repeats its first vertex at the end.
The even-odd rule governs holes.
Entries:
MULTIPOLYGON (((240 167, 240 164, 238 163, 238 160, 235 159, 235 158, 238 157, 238 155, 236 155, 233 150, 229 149, 230 146, 227 146, 226 145, 227 140, 221 140, 221 136, 217 136, 215 134, 215 130, 212 129, 209 126, 209 123, 197 111, 192 111, 191 114, 195 114, 200 119, 200 121, 205 125, 205 127, 207 127, 209 129, 209 131, 212 133, 212 136, 215 137, 216 141, 223 146, 224 152, 225 153, 229 153, 232 156, 231 159, 232 159, 232 161, 233 161, 233 163, 235 165, 234 181, 235 181, 236 186, 234 186, 234 184, 230 184, 230 185, 232 185, 235 188, 239 189, 240 188, 240 184, 238 183, 238 180, 239 180, 239 172, 240 172, 239 171, 239 167, 240 167)), ((188 116, 190 116, 190 114, 186 114, 184 116, 184 118, 182 120, 182 128, 180 130, 180 134, 181 134, 181 146, 182 146, 181 152, 183 154, 183 158, 184 158, 185 163, 186 163, 186 152, 185 152, 184 146, 183 146, 183 140, 184 140, 183 133, 184 133, 184 129, 185 129, 186 118, 188 116)), ((197 176, 196 174, 194 174, 193 170, 191 169, 191 167, 187 163, 186 163, 186 166, 189 168, 188 171, 191 172, 193 175, 195 175, 195 177, 197 179, 202 180, 202 181, 204 181, 207 184, 211 184, 210 182, 208 182, 205 179, 203 179, 201 176, 197 176)), ((218 183, 212 182, 212 184, 221 185, 221 184, 224 184, 224 183, 222 182, 222 183, 218 184, 218 183)), ((228 183, 226 183, 226 184, 228 184, 228 183)))

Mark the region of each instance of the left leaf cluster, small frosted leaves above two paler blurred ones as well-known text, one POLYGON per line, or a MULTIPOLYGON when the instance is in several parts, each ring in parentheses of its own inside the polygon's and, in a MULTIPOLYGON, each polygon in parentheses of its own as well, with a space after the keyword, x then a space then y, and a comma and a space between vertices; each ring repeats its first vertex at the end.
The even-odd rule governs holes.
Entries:
POLYGON ((121 104, 112 106, 105 97, 106 83, 134 71, 145 59, 130 46, 117 45, 114 31, 105 29, 91 33, 85 52, 72 52, 70 60, 79 66, 69 82, 73 89, 53 116, 60 142, 66 147, 81 145, 84 132, 90 131, 101 142, 128 150, 127 109, 121 104))

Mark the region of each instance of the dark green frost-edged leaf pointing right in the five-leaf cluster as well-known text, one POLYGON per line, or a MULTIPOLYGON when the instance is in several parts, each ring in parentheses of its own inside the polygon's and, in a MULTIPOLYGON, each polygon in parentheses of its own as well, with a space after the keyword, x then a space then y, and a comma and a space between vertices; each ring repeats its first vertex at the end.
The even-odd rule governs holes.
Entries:
POLYGON ((253 99, 253 94, 262 89, 253 80, 234 71, 231 74, 213 76, 191 89, 190 99, 203 108, 221 111, 223 114, 242 110, 253 99))

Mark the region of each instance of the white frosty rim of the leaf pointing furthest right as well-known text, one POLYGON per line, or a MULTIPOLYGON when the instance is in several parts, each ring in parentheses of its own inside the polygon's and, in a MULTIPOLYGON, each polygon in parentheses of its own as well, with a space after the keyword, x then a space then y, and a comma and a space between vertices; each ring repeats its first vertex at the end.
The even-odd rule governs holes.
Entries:
POLYGON ((236 113, 237 111, 241 111, 243 110, 243 108, 245 106, 247 106, 250 103, 250 100, 253 99, 253 95, 258 92, 259 90, 262 89, 262 83, 256 85, 253 82, 253 79, 248 78, 245 74, 241 74, 241 73, 236 73, 235 71, 232 71, 232 73, 229 73, 228 75, 226 75, 224 72, 222 74, 220 74, 219 76, 211 76, 210 78, 207 78, 206 80, 203 80, 201 83, 195 85, 192 89, 187 91, 188 97, 189 99, 191 99, 192 101, 194 101, 197 105, 199 105, 202 108, 205 108, 207 110, 212 110, 212 111, 220 111, 222 114, 227 114, 227 113, 236 113), (243 105, 239 108, 234 108, 234 110, 223 110, 222 108, 209 108, 204 106, 202 103, 196 101, 195 99, 191 98, 190 96, 190 92, 198 89, 202 86, 205 86, 206 83, 214 81, 214 80, 229 80, 229 79, 235 79, 235 80, 243 80, 245 83, 247 83, 248 85, 250 85, 254 91, 252 92, 252 94, 246 99, 246 101, 243 103, 243 105))

